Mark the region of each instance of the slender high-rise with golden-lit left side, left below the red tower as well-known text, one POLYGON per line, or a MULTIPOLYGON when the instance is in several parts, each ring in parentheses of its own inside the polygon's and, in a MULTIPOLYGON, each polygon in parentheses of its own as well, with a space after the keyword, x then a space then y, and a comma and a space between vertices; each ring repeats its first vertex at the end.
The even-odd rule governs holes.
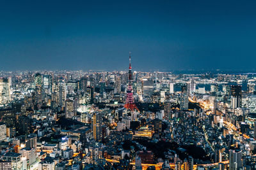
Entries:
POLYGON ((102 115, 101 113, 93 113, 92 115, 92 131, 95 141, 102 140, 102 115))

